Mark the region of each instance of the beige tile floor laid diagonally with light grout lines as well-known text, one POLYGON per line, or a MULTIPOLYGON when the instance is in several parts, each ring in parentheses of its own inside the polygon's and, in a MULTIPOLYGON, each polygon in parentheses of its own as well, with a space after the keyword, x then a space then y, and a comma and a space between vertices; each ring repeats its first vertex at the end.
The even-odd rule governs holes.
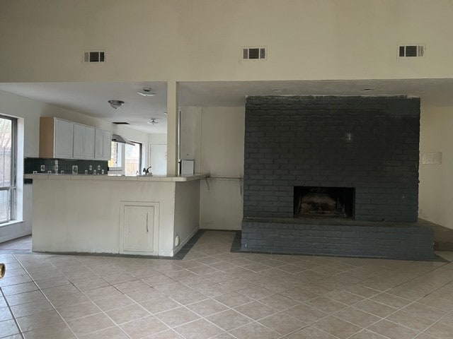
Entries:
POLYGON ((205 232, 181 261, 0 252, 0 338, 453 338, 453 263, 239 254, 233 238, 205 232))

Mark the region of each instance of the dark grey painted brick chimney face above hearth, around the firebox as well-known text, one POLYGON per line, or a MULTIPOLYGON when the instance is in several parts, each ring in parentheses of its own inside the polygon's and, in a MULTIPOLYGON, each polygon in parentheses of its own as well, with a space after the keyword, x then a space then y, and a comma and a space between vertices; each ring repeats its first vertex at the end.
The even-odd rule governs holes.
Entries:
POLYGON ((355 220, 418 217, 420 100, 247 97, 244 217, 292 218, 294 186, 355 188, 355 220))

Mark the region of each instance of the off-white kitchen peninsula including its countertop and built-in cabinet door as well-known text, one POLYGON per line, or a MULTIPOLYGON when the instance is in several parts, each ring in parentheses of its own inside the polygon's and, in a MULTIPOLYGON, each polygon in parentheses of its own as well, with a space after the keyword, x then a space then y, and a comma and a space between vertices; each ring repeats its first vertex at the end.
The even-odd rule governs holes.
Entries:
POLYGON ((25 174, 33 251, 173 256, 199 229, 205 177, 25 174))

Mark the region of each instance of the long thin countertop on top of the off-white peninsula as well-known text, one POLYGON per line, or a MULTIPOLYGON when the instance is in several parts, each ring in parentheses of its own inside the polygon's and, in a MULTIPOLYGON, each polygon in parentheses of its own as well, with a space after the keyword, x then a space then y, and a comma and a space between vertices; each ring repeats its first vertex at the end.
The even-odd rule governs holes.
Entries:
POLYGON ((204 179, 209 174, 196 173, 184 174, 177 177, 166 175, 134 175, 125 176, 120 174, 24 174, 25 179, 40 180, 123 180, 132 182, 191 182, 193 180, 204 179))

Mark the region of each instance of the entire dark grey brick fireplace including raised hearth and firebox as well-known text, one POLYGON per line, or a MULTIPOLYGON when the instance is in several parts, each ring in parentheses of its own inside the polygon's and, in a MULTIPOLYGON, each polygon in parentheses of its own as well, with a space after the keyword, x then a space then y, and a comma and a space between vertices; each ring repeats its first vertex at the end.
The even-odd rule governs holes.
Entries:
POLYGON ((245 132, 243 249, 432 257, 418 98, 247 97, 245 132))

